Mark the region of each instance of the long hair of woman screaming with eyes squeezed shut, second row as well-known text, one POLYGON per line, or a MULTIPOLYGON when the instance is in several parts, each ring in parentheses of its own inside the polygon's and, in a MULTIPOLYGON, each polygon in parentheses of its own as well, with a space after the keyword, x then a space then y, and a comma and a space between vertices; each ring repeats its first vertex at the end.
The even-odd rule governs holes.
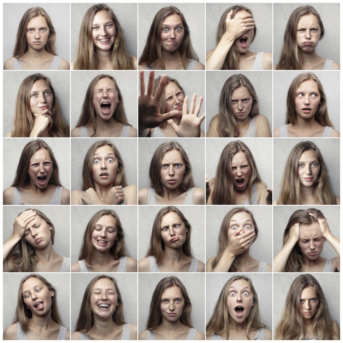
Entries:
POLYGON ((96 137, 96 120, 95 120, 96 113, 93 107, 94 91, 95 91, 95 86, 97 82, 103 78, 109 78, 110 80, 112 80, 118 92, 119 103, 117 104, 117 107, 112 117, 119 123, 123 123, 124 125, 130 125, 126 119, 123 96, 121 95, 116 79, 111 75, 101 74, 101 75, 96 76, 89 84, 85 98, 83 100, 81 115, 78 120, 78 123, 75 126, 75 127, 78 127, 82 125, 92 124, 92 128, 94 131, 94 133, 92 134, 92 137, 96 137))

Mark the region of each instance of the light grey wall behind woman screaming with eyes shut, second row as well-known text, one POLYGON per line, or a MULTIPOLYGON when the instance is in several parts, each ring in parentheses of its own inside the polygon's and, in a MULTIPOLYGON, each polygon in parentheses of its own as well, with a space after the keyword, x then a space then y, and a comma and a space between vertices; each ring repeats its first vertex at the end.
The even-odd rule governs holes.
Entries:
POLYGON ((137 72, 135 71, 73 71, 71 73, 71 129, 78 122, 82 104, 87 88, 91 81, 98 75, 109 74, 113 76, 123 96, 124 109, 128 122, 137 128, 137 72))

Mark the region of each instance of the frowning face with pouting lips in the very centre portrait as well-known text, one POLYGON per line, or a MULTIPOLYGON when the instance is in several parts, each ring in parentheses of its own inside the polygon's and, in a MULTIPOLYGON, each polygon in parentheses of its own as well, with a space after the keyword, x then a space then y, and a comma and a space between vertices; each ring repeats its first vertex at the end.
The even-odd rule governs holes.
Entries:
POLYGON ((181 154, 176 149, 167 151, 161 161, 162 185, 170 189, 176 189, 181 185, 185 174, 186 167, 181 154))

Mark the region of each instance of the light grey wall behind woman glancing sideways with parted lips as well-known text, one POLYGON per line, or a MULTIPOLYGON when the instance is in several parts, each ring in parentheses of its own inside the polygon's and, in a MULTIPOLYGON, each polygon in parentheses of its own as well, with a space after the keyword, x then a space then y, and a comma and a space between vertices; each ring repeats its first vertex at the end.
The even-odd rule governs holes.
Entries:
MULTIPOLYGON (((305 71, 274 71, 274 122, 273 128, 285 125, 286 101, 289 86, 299 74, 305 71)), ((340 72, 339 71, 316 71, 314 73, 320 80, 326 95, 329 118, 333 127, 340 131, 340 72)))

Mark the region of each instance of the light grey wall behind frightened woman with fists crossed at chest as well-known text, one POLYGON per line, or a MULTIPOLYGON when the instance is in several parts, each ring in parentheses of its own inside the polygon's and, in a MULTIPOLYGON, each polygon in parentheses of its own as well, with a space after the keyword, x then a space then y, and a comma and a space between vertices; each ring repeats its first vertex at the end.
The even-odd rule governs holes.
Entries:
MULTIPOLYGON (((71 140, 71 189, 82 187, 82 166, 88 149, 99 138, 75 138, 71 140)), ((137 141, 135 139, 109 139, 120 152, 124 162, 126 182, 128 185, 137 185, 137 141)))

